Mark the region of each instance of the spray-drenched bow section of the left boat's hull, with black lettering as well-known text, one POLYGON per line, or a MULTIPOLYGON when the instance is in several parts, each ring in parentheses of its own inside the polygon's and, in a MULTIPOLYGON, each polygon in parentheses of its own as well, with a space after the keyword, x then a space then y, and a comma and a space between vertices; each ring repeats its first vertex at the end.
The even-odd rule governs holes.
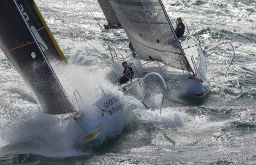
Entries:
POLYGON ((67 119, 74 120, 81 128, 77 143, 101 145, 106 139, 116 136, 124 129, 131 120, 129 115, 131 111, 119 97, 104 95, 67 119))

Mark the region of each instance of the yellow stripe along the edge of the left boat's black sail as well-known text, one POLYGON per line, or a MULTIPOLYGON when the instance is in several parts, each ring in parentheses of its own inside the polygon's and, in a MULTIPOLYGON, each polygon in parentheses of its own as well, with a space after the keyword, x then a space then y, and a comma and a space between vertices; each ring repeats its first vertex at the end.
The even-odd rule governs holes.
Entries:
POLYGON ((59 45, 57 44, 56 40, 54 39, 54 37, 53 37, 53 35, 52 35, 52 32, 50 31, 49 27, 47 26, 46 22, 44 21, 44 18, 42 17, 41 12, 39 11, 38 7, 36 6, 36 3, 34 3, 34 8, 35 8, 35 10, 36 10, 36 12, 37 12, 39 18, 41 19, 42 24, 43 24, 44 27, 46 28, 47 33, 48 33, 49 36, 51 37, 51 40, 52 40, 52 42, 53 42, 55 48, 57 49, 57 52, 59 53, 59 55, 60 55, 62 61, 63 61, 65 64, 67 64, 68 62, 67 62, 66 57, 64 56, 64 54, 63 54, 62 51, 61 51, 61 48, 59 47, 59 45))

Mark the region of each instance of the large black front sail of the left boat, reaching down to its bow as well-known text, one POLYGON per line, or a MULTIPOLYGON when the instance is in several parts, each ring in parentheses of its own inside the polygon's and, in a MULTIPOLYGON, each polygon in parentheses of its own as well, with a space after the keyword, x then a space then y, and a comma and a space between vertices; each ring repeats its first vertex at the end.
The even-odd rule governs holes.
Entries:
MULTIPOLYGON (((41 110, 48 114, 74 111, 72 103, 29 30, 19 3, 0 1, 0 48, 31 88, 41 110)), ((34 1, 30 1, 34 3, 34 1)))

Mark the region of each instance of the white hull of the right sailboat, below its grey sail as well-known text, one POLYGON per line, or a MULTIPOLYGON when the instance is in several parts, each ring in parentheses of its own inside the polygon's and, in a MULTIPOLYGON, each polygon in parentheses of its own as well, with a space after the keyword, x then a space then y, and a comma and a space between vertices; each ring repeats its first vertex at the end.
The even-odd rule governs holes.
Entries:
MULTIPOLYGON (((191 40, 191 39, 190 39, 191 40)), ((187 39, 183 40, 183 44, 188 45, 187 39)), ((189 44, 194 44, 193 40, 189 44)), ((187 46, 183 45, 183 46, 187 46)), ((202 49, 197 50, 189 49, 190 52, 186 54, 199 54, 194 67, 195 74, 185 70, 179 70, 171 68, 161 62, 157 61, 144 61, 136 58, 130 58, 129 62, 133 62, 140 75, 145 75, 150 72, 159 73, 165 80, 167 85, 168 95, 172 95, 173 92, 179 93, 182 96, 192 97, 204 97, 208 91, 208 80, 207 80, 207 65, 205 61, 205 51, 202 49)), ((190 63, 192 61, 190 60, 190 63)))

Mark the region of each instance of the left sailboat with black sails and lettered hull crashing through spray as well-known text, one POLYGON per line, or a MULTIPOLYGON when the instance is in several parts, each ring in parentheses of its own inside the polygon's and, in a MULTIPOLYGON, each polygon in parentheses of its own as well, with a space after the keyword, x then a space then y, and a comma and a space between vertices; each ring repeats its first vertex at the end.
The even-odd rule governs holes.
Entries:
MULTIPOLYGON (((80 139, 86 143, 118 134, 129 122, 127 103, 116 93, 104 92, 103 88, 99 88, 100 97, 87 102, 78 90, 74 90, 76 102, 71 101, 51 66, 51 62, 56 61, 67 64, 67 60, 36 3, 33 0, 2 0, 0 6, 0 48, 31 89, 41 111, 67 116, 66 120, 77 123, 82 132, 80 139)), ((142 85, 143 78, 140 78, 127 87, 124 94, 138 100, 136 97, 141 98, 145 92, 142 85), (132 93, 134 91, 140 95, 132 93)))

